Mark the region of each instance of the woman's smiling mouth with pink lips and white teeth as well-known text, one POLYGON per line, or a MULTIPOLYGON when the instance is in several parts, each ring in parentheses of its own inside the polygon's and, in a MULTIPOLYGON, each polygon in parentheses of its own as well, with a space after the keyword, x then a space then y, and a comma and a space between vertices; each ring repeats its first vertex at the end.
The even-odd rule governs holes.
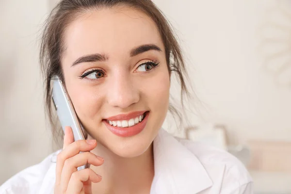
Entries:
POLYGON ((113 134, 129 137, 140 133, 146 127, 148 115, 148 111, 119 114, 103 119, 103 123, 113 134))

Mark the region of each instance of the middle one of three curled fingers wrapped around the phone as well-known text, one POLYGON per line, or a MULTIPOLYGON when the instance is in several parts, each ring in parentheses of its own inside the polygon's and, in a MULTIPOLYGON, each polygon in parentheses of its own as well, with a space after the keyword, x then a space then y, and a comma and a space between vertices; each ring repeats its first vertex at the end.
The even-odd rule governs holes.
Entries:
POLYGON ((61 189, 66 190, 67 184, 74 172, 77 171, 77 167, 90 163, 94 166, 100 166, 104 162, 104 159, 96 156, 91 152, 82 152, 73 156, 65 161, 62 175, 61 175, 61 189))

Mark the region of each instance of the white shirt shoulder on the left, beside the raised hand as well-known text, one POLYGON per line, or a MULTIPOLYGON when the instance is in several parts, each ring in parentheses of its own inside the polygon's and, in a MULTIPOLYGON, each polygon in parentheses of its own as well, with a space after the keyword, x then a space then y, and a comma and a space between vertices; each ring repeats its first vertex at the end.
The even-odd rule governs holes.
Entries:
POLYGON ((8 179, 0 186, 0 194, 39 193, 49 170, 55 168, 55 159, 59 152, 60 150, 50 154, 42 162, 30 166, 8 179))

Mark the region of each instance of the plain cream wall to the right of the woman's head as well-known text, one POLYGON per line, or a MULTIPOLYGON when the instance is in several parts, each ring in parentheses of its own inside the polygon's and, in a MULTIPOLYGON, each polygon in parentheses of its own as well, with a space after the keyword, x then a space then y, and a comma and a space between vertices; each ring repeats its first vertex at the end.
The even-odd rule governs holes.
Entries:
MULTIPOLYGON (((202 119, 226 124, 231 143, 291 140, 291 84, 275 70, 291 70, 291 2, 288 0, 154 0, 177 29, 202 119), (285 10, 285 11, 284 11, 285 10), (266 24, 267 23, 267 24, 266 24), (275 25, 278 25, 277 27, 275 25), (262 28, 262 26, 264 28, 262 28), (263 36, 264 34, 264 36, 263 36), (266 43, 264 37, 278 39, 266 43), (277 44, 278 43, 278 44, 277 44), (289 47, 283 56, 267 56, 289 47), (267 53, 270 53, 268 55, 267 53), (272 66, 273 65, 273 66, 272 66)), ((181 135, 182 136, 182 135, 181 135)))

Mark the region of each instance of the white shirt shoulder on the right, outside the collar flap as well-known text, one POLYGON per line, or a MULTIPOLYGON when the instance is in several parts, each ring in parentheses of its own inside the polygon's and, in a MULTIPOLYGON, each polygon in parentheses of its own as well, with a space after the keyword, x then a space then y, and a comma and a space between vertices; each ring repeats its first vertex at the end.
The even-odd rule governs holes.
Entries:
POLYGON ((191 151, 209 174, 213 185, 219 185, 222 193, 245 193, 251 190, 252 178, 236 157, 225 150, 203 143, 176 138, 191 151), (243 190, 243 191, 242 191, 243 190))

